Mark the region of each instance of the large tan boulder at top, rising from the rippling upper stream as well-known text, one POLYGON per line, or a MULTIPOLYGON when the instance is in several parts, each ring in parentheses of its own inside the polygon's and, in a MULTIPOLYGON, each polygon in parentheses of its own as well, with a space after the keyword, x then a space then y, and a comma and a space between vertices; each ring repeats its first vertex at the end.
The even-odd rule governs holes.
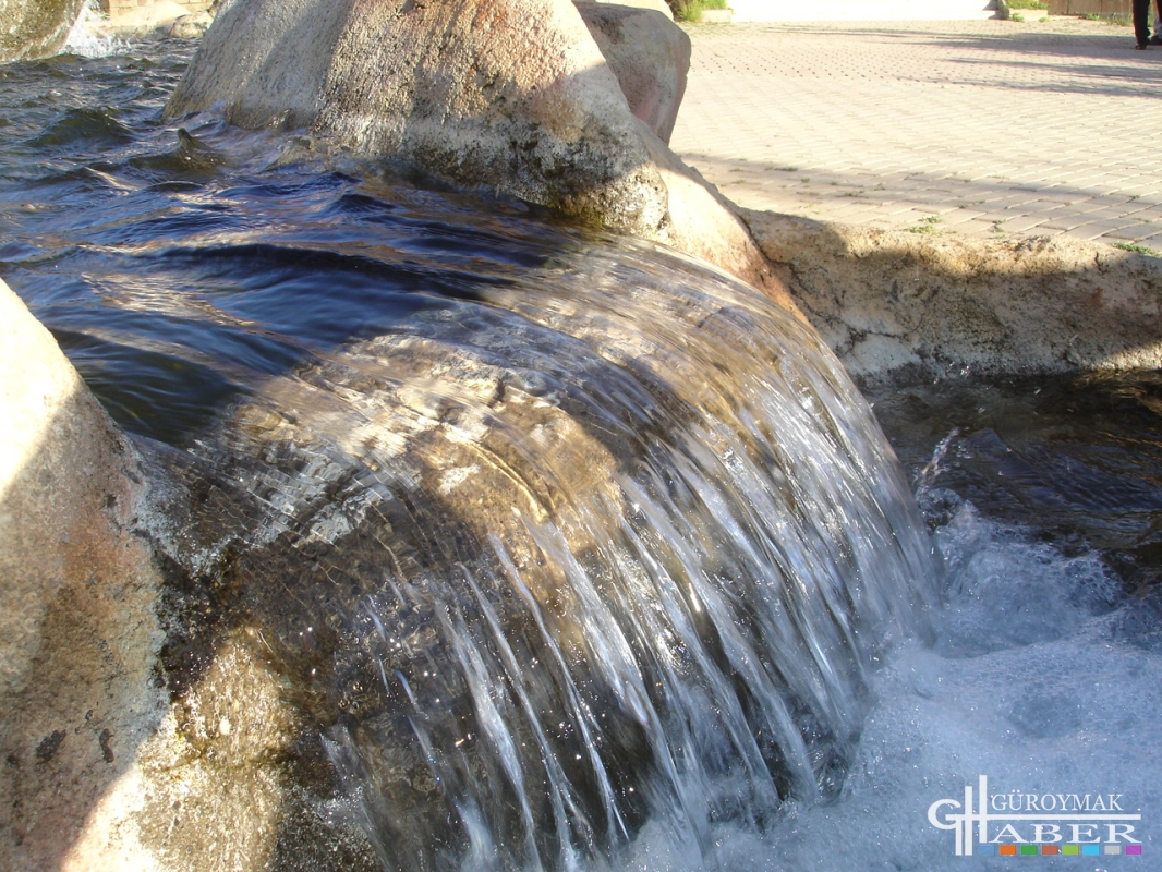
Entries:
POLYGON ((633 116, 571 0, 237 0, 166 114, 211 109, 673 244, 788 301, 717 192, 633 116))

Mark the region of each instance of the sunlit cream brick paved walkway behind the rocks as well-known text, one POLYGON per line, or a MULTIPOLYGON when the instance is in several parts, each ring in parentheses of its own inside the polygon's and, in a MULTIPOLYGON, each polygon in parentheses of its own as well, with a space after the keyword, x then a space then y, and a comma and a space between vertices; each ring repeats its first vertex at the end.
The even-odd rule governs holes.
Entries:
POLYGON ((688 26, 672 146, 741 206, 1162 251, 1162 47, 1048 22, 688 26))

